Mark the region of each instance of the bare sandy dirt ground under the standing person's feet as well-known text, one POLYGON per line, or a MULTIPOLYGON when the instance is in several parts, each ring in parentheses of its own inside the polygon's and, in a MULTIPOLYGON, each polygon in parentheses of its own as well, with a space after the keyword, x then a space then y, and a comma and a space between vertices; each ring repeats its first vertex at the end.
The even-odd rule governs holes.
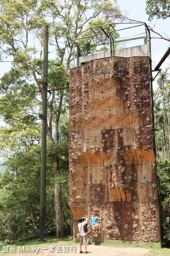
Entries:
MULTIPOLYGON (((83 253, 80 252, 79 246, 76 246, 77 249, 74 252, 49 252, 48 250, 39 249, 38 253, 35 252, 25 252, 25 253, 15 253, 15 256, 53 256, 53 255, 69 255, 69 256, 78 256, 85 255, 84 246, 82 247, 83 253)), ((74 251, 74 250, 73 250, 74 251)), ((87 246, 87 252, 89 256, 140 256, 148 255, 149 249, 147 248, 133 248, 133 247, 108 247, 108 246, 99 246, 90 244, 87 246)))

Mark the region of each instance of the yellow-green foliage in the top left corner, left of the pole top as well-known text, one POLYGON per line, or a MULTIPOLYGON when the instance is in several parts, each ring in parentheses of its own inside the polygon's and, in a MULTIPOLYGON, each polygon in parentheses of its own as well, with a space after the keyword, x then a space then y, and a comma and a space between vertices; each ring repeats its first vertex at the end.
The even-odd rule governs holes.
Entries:
POLYGON ((38 15, 37 1, 0 1, 0 44, 4 47, 3 54, 13 55, 17 61, 28 62, 32 59, 32 55, 37 51, 35 47, 28 46, 28 38, 31 33, 36 30, 35 22, 41 25, 45 22, 44 18, 38 15), (23 44, 22 44, 22 39, 23 44), (24 50, 21 48, 24 46, 24 50))

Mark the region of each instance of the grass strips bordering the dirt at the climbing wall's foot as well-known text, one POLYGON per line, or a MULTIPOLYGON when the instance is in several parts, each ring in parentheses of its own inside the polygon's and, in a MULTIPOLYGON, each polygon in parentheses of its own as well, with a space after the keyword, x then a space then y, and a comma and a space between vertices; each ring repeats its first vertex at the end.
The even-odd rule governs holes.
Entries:
MULTIPOLYGON (((48 248, 49 246, 78 246, 79 241, 75 242, 73 241, 72 237, 65 237, 65 238, 54 238, 54 237, 47 237, 46 238, 46 242, 41 242, 38 239, 36 240, 31 240, 31 241, 26 241, 26 242, 19 242, 16 244, 9 244, 8 248, 10 249, 11 246, 15 246, 16 250, 15 252, 18 253, 18 247, 24 247, 24 246, 29 246, 30 248, 48 248)), ((91 242, 90 244, 95 244, 98 246, 109 246, 109 247, 143 247, 143 248, 148 248, 149 253, 146 256, 170 256, 170 248, 160 248, 159 246, 154 246, 152 243, 150 243, 149 245, 143 245, 143 244, 122 244, 122 243, 106 243, 106 242, 101 242, 101 243, 97 243, 97 242, 91 242)), ((2 244, 0 245, 0 256, 4 256, 4 255, 15 255, 14 252, 9 252, 8 253, 3 253, 2 252, 2 244)), ((40 255, 40 251, 38 253, 40 255)), ((28 255, 27 253, 25 253, 25 255, 28 255)))

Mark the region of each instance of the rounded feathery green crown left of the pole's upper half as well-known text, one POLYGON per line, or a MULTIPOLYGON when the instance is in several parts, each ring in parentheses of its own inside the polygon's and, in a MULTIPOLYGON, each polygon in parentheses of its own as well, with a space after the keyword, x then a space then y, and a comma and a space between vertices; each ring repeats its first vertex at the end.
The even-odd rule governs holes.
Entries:
POLYGON ((0 114, 10 126, 13 121, 36 123, 35 107, 40 101, 38 88, 31 80, 31 73, 22 65, 13 65, 1 78, 0 114))

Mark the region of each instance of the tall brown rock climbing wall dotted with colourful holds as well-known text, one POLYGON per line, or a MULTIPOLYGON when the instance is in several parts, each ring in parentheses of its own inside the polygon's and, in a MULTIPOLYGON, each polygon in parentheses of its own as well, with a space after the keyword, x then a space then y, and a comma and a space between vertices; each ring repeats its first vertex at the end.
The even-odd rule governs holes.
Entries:
POLYGON ((160 242, 149 57, 70 69, 69 195, 74 219, 102 214, 96 239, 160 242))

